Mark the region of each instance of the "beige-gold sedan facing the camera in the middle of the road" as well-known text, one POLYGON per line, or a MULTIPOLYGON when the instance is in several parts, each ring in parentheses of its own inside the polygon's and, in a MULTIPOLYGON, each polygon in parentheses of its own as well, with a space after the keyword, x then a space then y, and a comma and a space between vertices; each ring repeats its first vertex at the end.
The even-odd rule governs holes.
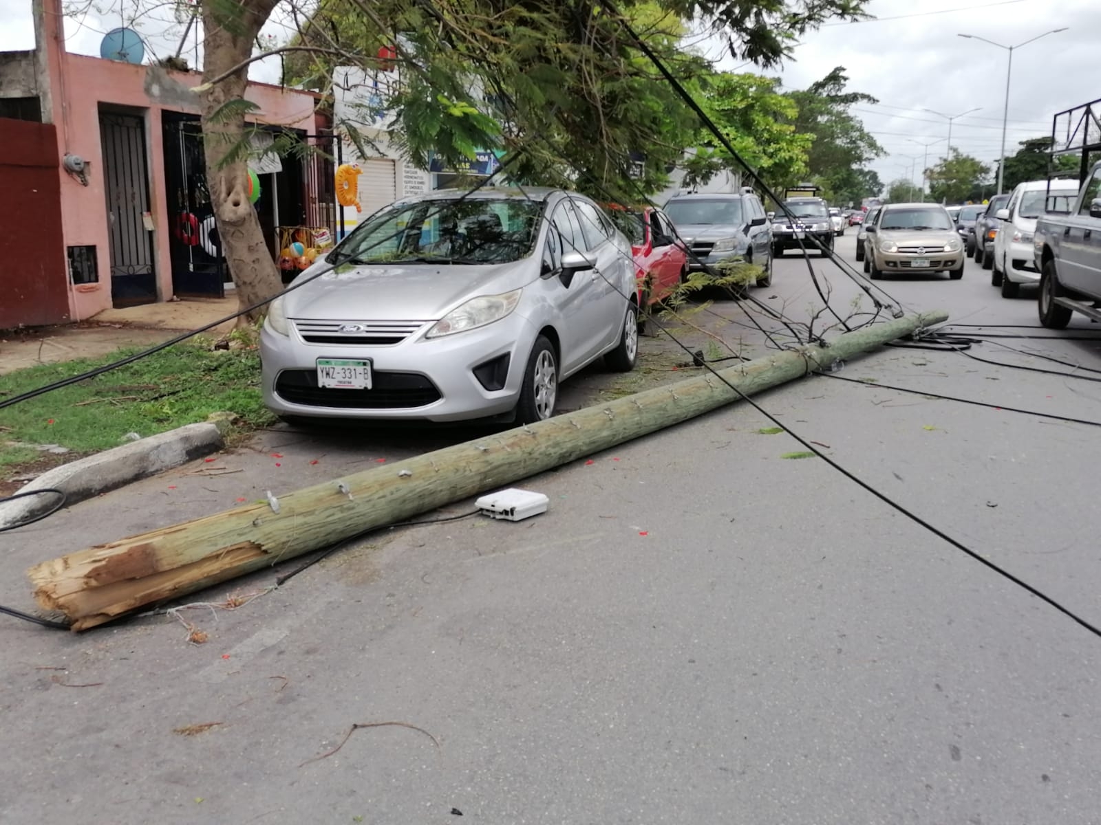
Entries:
POLYGON ((947 272, 963 277, 963 242, 938 204, 887 204, 865 223, 864 272, 872 279, 903 272, 947 272))

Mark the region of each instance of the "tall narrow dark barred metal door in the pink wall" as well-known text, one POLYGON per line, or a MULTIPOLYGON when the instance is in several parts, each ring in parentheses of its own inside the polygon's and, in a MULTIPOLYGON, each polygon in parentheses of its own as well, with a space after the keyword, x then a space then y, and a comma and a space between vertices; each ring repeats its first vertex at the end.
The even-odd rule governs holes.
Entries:
POLYGON ((156 300, 153 239, 145 228, 149 175, 141 116, 100 112, 103 183, 111 254, 111 302, 132 307, 156 300))

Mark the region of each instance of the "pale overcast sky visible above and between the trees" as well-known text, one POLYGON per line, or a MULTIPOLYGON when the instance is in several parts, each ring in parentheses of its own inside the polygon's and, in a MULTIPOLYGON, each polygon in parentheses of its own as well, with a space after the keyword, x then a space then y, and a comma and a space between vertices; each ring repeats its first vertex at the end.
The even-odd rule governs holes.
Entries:
MULTIPOLYGON (((152 6, 149 0, 98 0, 97 6, 120 9, 122 4, 129 19, 139 2, 141 8, 152 6)), ((877 20, 828 24, 807 35, 780 74, 786 88, 796 89, 844 66, 850 89, 879 99, 853 113, 890 153, 872 164, 885 183, 907 177, 912 164, 914 179, 920 182, 926 150, 919 143, 933 144, 929 165, 944 154, 948 122, 927 109, 955 116, 980 107, 955 121, 952 145, 991 165, 999 156, 1009 53, 957 34, 1016 45, 1042 32, 1068 28, 1014 52, 1007 154, 1016 151, 1017 141, 1049 134, 1055 112, 1101 98, 1101 79, 1093 68, 1101 0, 870 0, 866 8, 877 20)), ((182 26, 168 25, 171 10, 162 8, 155 15, 160 21, 146 19, 140 29, 159 55, 174 53, 182 26), (157 37, 166 26, 173 36, 157 37)), ((0 0, 0 20, 4 21, 0 51, 34 46, 31 0, 0 0)), ((95 12, 67 20, 68 47, 98 54, 102 33, 118 24, 113 15, 100 19, 95 12)), ((275 21, 265 31, 285 37, 293 30, 285 21, 275 21)), ((184 56, 194 65, 194 38, 184 56)), ((720 65, 737 66, 729 57, 720 65)), ((277 82, 279 59, 254 64, 250 76, 277 82)))

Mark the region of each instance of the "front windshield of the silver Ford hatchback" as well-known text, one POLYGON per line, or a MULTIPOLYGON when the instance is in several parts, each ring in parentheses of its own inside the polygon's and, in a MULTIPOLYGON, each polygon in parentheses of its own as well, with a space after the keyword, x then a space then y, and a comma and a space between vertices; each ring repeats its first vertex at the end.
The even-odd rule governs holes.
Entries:
POLYGON ((369 218, 330 263, 500 264, 532 253, 543 204, 521 198, 421 200, 369 218))

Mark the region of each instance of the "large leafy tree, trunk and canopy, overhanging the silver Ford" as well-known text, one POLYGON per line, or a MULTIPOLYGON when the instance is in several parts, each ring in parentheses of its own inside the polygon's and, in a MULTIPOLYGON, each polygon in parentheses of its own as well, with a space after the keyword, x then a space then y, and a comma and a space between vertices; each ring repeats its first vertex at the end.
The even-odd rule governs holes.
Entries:
MULTIPOLYGON (((678 28, 686 20, 707 25, 735 58, 768 68, 831 16, 863 16, 865 2, 659 0, 653 11, 678 28)), ((276 0, 201 4, 207 169, 217 180, 211 198, 222 248, 246 304, 282 286, 248 213, 240 151, 246 63, 259 51, 257 34, 276 0)), ((476 148, 504 148, 510 174, 521 179, 595 179, 625 196, 634 191, 636 155, 646 158, 642 185, 656 188, 686 145, 677 131, 698 127, 629 35, 625 25, 642 29, 639 18, 650 13, 635 3, 623 3, 622 12, 592 0, 321 0, 309 13, 298 9, 295 42, 266 55, 310 54, 316 80, 337 64, 375 69, 379 48, 394 48, 402 82, 390 101, 391 138, 418 165, 429 151, 457 162, 476 148), (347 20, 349 12, 359 22, 341 28, 337 14, 347 20)), ((674 73, 691 79, 700 59, 679 50, 676 31, 654 24, 641 33, 662 46, 674 73)))

